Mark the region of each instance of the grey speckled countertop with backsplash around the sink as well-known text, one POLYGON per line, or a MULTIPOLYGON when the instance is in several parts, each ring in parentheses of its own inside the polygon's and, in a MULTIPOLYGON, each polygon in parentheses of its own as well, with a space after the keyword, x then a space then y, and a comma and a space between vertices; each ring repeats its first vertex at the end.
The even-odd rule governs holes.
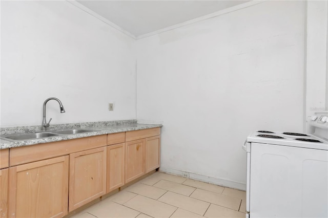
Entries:
MULTIPOLYGON (((0 149, 48 143, 48 142, 57 142, 62 140, 77 139, 77 138, 105 135, 111 133, 128 132, 133 130, 155 128, 161 126, 162 126, 161 124, 140 124, 137 123, 136 120, 54 124, 50 126, 49 130, 80 128, 80 129, 91 129, 95 131, 87 132, 87 133, 78 133, 73 135, 58 135, 58 136, 52 136, 47 138, 19 140, 19 141, 18 140, 7 141, 4 139, 0 139, 0 149)), ((40 126, 2 127, 1 137, 5 137, 8 134, 31 133, 31 132, 39 132, 39 131, 40 131, 40 126)))

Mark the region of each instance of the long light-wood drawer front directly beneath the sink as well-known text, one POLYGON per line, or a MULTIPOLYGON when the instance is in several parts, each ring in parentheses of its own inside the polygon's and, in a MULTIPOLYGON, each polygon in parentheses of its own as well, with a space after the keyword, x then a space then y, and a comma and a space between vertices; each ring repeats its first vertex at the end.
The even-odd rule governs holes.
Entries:
POLYGON ((68 155, 107 145, 107 135, 10 148, 10 166, 68 155))

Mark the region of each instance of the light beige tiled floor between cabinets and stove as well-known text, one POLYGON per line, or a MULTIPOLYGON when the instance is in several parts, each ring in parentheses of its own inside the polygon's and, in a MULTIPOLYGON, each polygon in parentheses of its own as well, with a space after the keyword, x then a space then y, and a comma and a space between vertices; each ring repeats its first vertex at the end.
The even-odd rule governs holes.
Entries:
POLYGON ((155 172, 71 217, 245 217, 245 198, 244 191, 155 172))

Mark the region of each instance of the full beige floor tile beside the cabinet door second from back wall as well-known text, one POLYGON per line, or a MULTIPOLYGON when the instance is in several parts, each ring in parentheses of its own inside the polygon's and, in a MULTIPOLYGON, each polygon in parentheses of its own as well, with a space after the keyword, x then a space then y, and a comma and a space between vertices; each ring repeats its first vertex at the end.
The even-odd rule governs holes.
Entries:
POLYGON ((127 191, 144 195, 145 197, 151 198, 151 199, 158 199, 161 197, 161 195, 165 194, 167 192, 166 190, 156 188, 153 186, 145 185, 142 183, 134 184, 128 188, 126 188, 127 191))

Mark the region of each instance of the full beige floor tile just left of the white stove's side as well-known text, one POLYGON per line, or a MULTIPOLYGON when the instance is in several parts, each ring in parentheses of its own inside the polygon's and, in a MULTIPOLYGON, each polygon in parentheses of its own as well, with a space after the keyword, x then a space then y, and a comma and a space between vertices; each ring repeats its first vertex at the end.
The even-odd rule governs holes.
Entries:
POLYGON ((190 197, 202 201, 210 202, 212 204, 228 207, 230 209, 239 210, 241 199, 214 193, 207 190, 196 189, 190 197))

